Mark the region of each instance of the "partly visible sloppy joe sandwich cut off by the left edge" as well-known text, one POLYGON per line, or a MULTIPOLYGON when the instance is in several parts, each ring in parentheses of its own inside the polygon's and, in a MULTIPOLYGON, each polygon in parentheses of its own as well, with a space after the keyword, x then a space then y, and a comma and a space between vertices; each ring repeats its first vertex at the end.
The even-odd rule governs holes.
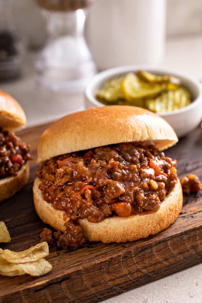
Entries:
POLYGON ((30 147, 12 132, 25 123, 22 107, 0 91, 0 202, 19 191, 29 178, 30 147))

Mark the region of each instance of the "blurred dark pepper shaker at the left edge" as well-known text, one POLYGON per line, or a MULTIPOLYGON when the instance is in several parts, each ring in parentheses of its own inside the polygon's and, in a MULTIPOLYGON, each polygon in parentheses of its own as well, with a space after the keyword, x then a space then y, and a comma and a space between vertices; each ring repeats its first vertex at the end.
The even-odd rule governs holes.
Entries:
POLYGON ((0 16, 0 81, 8 81, 21 74, 25 46, 13 22, 12 0, 0 0, 0 16))

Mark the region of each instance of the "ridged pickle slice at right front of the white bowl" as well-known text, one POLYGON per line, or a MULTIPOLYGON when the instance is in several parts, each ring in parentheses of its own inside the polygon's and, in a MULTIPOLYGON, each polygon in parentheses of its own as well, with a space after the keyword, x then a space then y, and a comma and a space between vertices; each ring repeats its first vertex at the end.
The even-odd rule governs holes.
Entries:
POLYGON ((170 112, 185 107, 191 103, 190 92, 185 88, 176 91, 163 92, 155 99, 146 99, 145 107, 152 112, 170 112))

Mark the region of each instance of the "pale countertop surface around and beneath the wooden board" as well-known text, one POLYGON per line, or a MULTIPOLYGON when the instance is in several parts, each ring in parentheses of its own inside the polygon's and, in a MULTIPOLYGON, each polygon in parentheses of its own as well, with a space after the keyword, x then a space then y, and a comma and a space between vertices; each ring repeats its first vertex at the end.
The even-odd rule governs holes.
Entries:
MULTIPOLYGON (((69 112, 84 109, 82 94, 54 93, 38 88, 34 81, 35 53, 28 54, 24 76, 0 89, 13 95, 27 116, 27 126, 52 121, 69 112)), ((178 69, 202 79, 202 37, 175 38, 166 45, 161 66, 178 69)), ((162 278, 110 298, 105 303, 200 303, 202 298, 202 264, 162 278)))

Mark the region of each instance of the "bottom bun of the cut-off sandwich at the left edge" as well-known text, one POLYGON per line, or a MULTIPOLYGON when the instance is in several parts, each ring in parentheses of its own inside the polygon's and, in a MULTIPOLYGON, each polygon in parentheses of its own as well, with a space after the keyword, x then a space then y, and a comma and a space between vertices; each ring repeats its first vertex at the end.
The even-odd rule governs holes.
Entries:
POLYGON ((27 183, 29 178, 29 163, 26 162, 22 166, 18 175, 15 177, 7 177, 0 180, 0 202, 10 198, 27 183))

